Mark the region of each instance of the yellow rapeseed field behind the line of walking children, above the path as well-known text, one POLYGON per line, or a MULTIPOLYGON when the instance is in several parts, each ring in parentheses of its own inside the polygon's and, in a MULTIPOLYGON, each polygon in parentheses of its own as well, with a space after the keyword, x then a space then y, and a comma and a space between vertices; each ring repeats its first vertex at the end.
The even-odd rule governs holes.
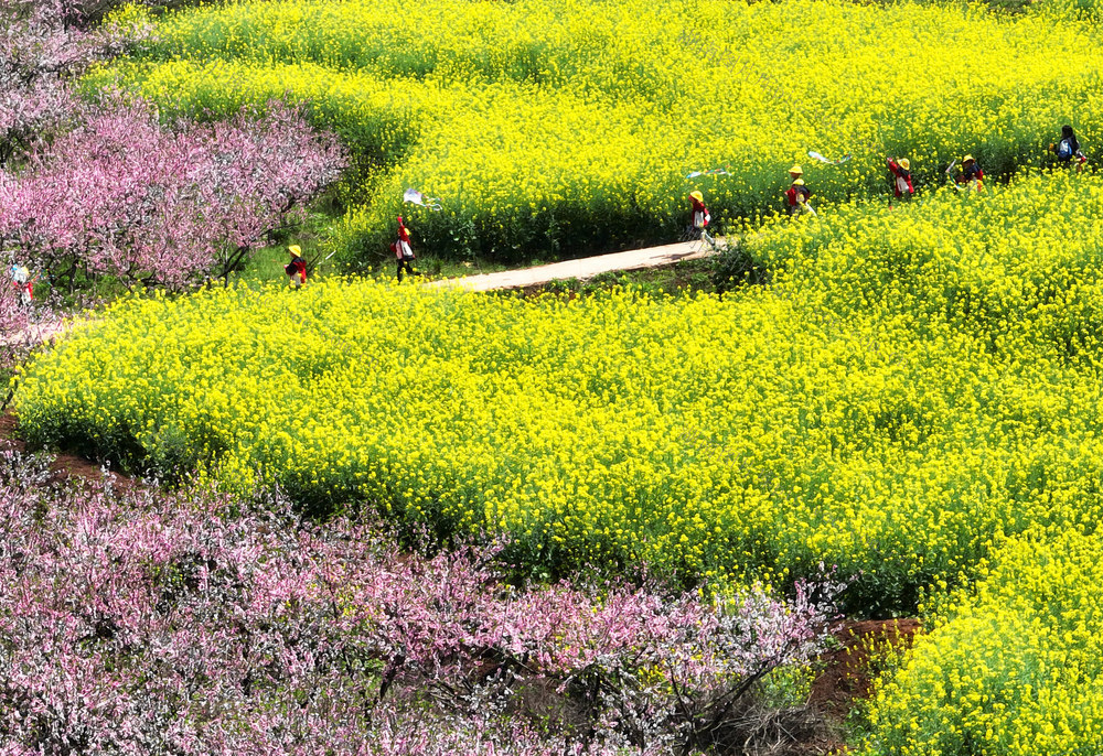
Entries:
POLYGON ((1103 139, 1093 25, 956 3, 293 0, 159 33, 92 82, 167 111, 304 102, 374 166, 336 240, 368 260, 407 186, 443 202, 406 208, 424 249, 508 261, 674 239, 694 187, 720 223, 758 217, 794 161, 817 202, 844 201, 887 192, 887 154, 929 187, 966 152, 1037 165, 1065 122, 1090 152, 1103 139))

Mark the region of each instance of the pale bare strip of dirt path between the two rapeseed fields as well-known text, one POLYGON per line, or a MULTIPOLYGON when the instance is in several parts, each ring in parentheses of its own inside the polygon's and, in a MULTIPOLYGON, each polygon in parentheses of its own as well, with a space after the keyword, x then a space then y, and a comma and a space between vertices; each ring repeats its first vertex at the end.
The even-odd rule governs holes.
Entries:
MULTIPOLYGON (((722 247, 724 239, 717 239, 722 247)), ((461 278, 432 281, 426 285, 432 289, 468 289, 470 291, 493 291, 497 289, 526 289, 550 283, 555 280, 586 280, 600 273, 618 270, 640 270, 643 268, 662 268, 683 260, 699 260, 716 255, 717 250, 703 241, 683 241, 630 249, 627 252, 583 257, 578 260, 566 260, 549 266, 503 270, 501 273, 483 273, 481 276, 464 276, 461 278)))

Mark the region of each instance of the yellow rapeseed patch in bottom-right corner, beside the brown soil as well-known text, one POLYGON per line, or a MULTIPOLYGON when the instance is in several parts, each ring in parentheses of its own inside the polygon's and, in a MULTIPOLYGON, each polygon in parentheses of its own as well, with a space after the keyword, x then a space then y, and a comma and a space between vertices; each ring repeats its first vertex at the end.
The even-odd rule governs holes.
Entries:
POLYGON ((1103 749, 1103 541, 1031 532, 943 609, 872 703, 868 756, 1103 749))

